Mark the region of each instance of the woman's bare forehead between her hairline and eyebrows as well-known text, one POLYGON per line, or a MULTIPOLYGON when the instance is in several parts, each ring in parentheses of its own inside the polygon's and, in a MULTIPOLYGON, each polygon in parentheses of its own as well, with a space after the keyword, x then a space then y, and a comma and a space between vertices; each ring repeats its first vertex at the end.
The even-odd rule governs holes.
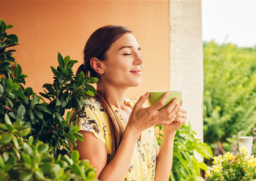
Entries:
POLYGON ((136 38, 134 38, 134 36, 131 35, 130 33, 124 34, 118 40, 112 43, 111 49, 114 51, 118 51, 120 47, 123 47, 123 46, 133 46, 136 49, 140 47, 137 43, 136 38))

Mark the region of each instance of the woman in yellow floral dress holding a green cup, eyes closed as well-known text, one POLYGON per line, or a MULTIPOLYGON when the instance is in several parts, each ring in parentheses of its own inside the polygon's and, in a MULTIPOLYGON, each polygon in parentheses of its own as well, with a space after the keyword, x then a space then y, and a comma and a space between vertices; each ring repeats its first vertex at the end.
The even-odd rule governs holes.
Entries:
POLYGON ((155 105, 145 106, 149 93, 138 101, 125 98, 127 88, 139 86, 143 60, 141 48, 123 26, 97 29, 87 40, 84 62, 79 67, 86 76, 98 77, 97 95, 85 100, 82 110, 71 112, 84 142, 76 141, 80 159, 90 160, 97 169, 96 179, 169 180, 175 132, 186 120, 178 98, 158 111, 166 102, 164 94, 155 105), (163 125, 159 150, 153 125, 163 125))

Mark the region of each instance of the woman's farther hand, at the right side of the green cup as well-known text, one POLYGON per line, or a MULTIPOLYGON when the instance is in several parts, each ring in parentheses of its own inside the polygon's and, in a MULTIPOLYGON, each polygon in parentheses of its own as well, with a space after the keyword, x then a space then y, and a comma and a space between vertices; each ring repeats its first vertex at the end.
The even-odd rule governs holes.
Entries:
POLYGON ((163 131, 167 131, 167 132, 172 132, 175 133, 178 128, 180 128, 183 124, 186 123, 186 110, 182 108, 182 99, 181 99, 181 104, 180 107, 178 108, 177 112, 175 113, 175 115, 177 117, 175 117, 174 121, 172 123, 170 123, 167 126, 163 127, 163 131))

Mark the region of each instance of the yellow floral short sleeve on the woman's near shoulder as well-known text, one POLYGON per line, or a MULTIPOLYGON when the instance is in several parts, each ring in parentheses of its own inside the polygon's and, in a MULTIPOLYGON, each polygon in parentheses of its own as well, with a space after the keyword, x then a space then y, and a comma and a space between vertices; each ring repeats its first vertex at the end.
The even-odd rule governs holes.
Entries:
MULTIPOLYGON (((71 112, 72 114, 72 112, 71 112)), ((77 125, 79 130, 90 131, 104 143, 106 135, 106 121, 107 117, 103 107, 95 99, 90 98, 85 100, 85 105, 79 111, 76 111, 74 120, 74 125, 77 125)))

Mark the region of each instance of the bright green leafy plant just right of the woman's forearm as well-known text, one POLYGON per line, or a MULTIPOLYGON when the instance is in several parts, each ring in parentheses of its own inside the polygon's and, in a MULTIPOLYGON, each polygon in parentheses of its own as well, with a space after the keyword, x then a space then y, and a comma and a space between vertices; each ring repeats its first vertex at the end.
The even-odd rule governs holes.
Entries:
MULTIPOLYGON (((158 145, 162 143, 162 126, 158 125, 159 134, 156 134, 158 145)), ((177 130, 174 138, 173 148, 173 167, 170 174, 170 181, 200 181, 204 180, 200 177, 200 169, 207 171, 207 165, 204 162, 199 162, 194 155, 194 152, 199 153, 204 158, 213 158, 213 152, 206 143, 198 142, 195 139, 191 124, 182 125, 177 130)))

